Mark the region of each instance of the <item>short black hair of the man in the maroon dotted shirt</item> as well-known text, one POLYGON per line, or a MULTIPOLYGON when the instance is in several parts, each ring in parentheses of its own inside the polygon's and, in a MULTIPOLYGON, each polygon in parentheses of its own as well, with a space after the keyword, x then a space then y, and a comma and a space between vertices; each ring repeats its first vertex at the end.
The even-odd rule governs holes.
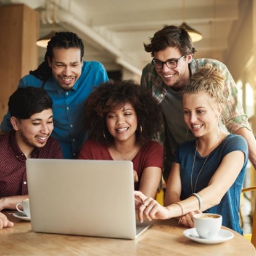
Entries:
POLYGON ((18 88, 9 98, 12 117, 28 119, 31 115, 52 109, 52 99, 43 88, 33 86, 18 88))

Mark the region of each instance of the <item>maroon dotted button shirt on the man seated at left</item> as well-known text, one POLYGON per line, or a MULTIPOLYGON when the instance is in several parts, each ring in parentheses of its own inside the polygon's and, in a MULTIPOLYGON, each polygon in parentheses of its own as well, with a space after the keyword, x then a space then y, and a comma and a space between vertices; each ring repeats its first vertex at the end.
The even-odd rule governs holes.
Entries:
MULTIPOLYGON (((59 142, 50 137, 44 147, 33 150, 31 158, 62 159, 59 142)), ((0 197, 28 194, 26 159, 14 131, 0 136, 0 197)))

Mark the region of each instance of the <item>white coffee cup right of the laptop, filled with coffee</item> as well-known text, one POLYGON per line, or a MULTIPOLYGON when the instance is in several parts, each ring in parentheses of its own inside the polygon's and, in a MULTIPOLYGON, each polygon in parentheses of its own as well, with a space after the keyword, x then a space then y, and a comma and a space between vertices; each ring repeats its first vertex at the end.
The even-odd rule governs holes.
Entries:
POLYGON ((194 226, 200 237, 215 239, 220 232, 222 216, 215 213, 197 213, 193 215, 194 226))

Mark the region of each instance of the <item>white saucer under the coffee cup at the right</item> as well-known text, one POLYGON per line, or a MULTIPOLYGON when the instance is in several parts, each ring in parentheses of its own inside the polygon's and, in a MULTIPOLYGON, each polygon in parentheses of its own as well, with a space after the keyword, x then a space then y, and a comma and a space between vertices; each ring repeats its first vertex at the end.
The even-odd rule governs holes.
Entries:
POLYGON ((220 242, 228 241, 234 237, 234 234, 226 229, 220 229, 220 233, 214 239, 205 239, 200 237, 199 234, 197 234, 196 228, 186 229, 183 234, 192 241, 201 242, 202 244, 218 244, 220 242))

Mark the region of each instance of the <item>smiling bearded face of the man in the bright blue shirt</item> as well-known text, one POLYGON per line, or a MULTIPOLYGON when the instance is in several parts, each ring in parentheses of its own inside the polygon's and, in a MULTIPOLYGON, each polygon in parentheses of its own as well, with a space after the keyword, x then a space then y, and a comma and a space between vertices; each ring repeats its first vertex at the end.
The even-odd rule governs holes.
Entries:
POLYGON ((54 48, 52 60, 48 58, 52 75, 59 86, 68 91, 73 88, 81 75, 81 50, 79 48, 54 48))

